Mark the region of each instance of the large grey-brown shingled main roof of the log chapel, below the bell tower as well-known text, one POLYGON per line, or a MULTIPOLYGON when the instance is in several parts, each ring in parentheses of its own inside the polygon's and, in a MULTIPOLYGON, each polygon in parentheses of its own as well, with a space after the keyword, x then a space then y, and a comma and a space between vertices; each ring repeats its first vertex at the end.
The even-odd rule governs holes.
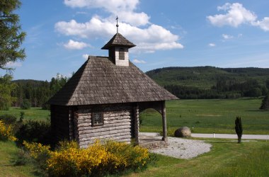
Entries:
POLYGON ((89 56, 67 84, 50 98, 51 105, 92 105, 178 99, 132 62, 116 66, 109 57, 89 56))

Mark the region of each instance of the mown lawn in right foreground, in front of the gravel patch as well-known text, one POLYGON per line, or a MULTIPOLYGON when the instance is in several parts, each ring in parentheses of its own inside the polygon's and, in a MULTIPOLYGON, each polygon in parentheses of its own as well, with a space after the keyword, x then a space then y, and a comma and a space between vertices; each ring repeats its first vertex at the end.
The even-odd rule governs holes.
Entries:
POLYGON ((158 155, 147 171, 130 176, 268 176, 268 142, 209 140, 212 150, 194 159, 175 159, 158 155))

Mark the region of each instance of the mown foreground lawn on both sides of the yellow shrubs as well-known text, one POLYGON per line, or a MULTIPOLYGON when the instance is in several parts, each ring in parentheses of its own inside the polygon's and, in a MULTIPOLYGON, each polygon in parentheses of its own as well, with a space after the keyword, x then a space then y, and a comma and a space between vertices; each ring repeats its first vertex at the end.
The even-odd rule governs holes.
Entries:
MULTIPOLYGON (((269 142, 236 143, 230 139, 207 139, 212 150, 193 159, 157 155, 154 164, 127 176, 268 176, 269 142)), ((0 176, 40 176, 31 165, 14 166, 18 147, 0 142, 0 176)))

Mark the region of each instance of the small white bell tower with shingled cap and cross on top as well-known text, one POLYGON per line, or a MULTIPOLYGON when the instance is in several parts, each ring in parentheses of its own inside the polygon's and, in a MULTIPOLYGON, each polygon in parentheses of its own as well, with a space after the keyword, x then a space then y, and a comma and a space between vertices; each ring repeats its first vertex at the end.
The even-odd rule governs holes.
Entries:
POLYGON ((117 20, 117 33, 113 38, 108 41, 101 49, 108 50, 108 56, 113 60, 117 66, 129 66, 129 49, 135 47, 132 42, 124 38, 120 33, 118 33, 118 16, 117 20))

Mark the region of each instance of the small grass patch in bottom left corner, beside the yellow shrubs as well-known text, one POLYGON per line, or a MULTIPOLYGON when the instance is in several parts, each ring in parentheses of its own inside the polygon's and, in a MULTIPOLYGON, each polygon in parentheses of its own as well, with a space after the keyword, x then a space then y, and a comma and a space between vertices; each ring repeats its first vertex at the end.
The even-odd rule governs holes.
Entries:
POLYGON ((14 165, 18 151, 14 142, 0 141, 0 176, 34 176, 35 169, 32 165, 14 165))

